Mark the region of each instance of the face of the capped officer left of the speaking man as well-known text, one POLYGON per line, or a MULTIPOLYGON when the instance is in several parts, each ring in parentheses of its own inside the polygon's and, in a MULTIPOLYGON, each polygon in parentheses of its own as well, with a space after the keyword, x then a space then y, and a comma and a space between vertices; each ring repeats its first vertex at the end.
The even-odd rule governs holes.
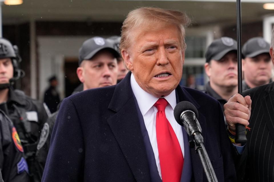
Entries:
POLYGON ((77 68, 79 80, 84 90, 116 84, 118 74, 117 60, 112 53, 99 51, 90 60, 84 60, 77 68))

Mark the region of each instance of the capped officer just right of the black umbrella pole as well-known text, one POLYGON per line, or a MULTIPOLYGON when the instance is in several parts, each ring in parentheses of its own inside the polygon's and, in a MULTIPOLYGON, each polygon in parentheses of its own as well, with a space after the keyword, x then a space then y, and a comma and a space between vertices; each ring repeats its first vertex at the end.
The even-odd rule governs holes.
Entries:
POLYGON ((251 38, 243 45, 243 91, 270 83, 273 65, 269 49, 262 37, 251 38))

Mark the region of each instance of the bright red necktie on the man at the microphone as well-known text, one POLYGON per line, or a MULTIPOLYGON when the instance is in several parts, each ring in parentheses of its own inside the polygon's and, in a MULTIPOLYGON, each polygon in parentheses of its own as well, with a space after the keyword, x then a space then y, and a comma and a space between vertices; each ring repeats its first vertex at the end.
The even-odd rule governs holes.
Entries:
POLYGON ((156 114, 156 138, 159 151, 160 167, 163 182, 180 182, 184 157, 178 138, 166 118, 165 109, 168 102, 160 98, 154 106, 156 114))

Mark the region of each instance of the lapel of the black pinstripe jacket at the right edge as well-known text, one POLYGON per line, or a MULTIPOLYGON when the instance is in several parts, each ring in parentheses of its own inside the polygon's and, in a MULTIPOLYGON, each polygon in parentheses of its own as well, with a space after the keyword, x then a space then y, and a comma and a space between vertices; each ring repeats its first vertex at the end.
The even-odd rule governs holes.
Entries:
MULTIPOLYGON (((269 134, 271 135, 272 140, 274 140, 274 82, 269 84, 265 88, 265 97, 261 99, 263 106, 263 112, 267 127, 269 129, 269 134)), ((252 108, 251 108, 252 109, 252 108)))

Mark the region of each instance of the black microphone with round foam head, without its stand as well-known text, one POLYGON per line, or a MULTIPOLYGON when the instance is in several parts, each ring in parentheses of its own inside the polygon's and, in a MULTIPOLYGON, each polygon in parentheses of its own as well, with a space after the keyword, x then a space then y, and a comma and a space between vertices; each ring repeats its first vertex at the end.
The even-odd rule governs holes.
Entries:
POLYGON ((190 137, 193 137, 198 143, 204 141, 202 137, 202 128, 197 119, 198 111, 191 102, 179 102, 175 106, 174 117, 177 123, 185 128, 190 137))

